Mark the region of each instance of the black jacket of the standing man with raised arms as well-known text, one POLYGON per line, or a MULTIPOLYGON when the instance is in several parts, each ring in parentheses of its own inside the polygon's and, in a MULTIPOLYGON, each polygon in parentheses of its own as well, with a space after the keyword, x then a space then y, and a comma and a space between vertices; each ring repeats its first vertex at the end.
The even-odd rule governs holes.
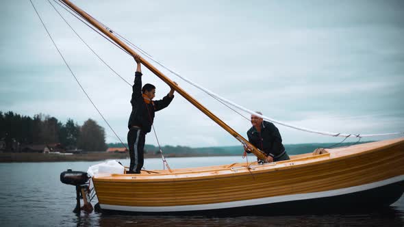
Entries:
POLYGON ((169 97, 167 94, 162 100, 153 101, 149 104, 145 103, 142 96, 142 72, 135 73, 135 82, 132 89, 132 111, 127 126, 130 129, 131 126, 137 125, 142 128, 143 133, 149 133, 155 111, 166 108, 173 101, 174 96, 169 97))

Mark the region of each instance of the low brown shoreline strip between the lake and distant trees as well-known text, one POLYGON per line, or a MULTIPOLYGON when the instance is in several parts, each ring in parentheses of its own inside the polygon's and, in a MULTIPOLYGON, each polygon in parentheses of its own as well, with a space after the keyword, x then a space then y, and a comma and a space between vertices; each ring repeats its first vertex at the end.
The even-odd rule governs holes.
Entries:
MULTIPOLYGON (((231 155, 208 155, 192 154, 178 155, 166 154, 164 157, 213 157, 231 155)), ((144 154, 144 159, 160 158, 160 155, 144 154)), ((23 163, 23 162, 62 162, 62 161, 104 161, 107 159, 129 159, 129 154, 107 153, 107 152, 87 152, 84 154, 60 155, 43 153, 0 153, 0 163, 23 163)))

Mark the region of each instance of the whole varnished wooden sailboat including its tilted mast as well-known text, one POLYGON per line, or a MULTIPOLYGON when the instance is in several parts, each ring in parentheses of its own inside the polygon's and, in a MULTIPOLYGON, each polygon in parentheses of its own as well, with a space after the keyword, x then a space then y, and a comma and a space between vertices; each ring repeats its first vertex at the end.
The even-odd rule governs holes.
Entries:
MULTIPOLYGON (((62 1, 125 51, 136 54, 86 12, 68 0, 62 1)), ((141 61, 242 144, 249 144, 157 68, 145 59, 141 61)), ((257 148, 251 151, 259 159, 265 158, 264 152, 257 148)), ((399 138, 317 149, 277 163, 232 163, 142 174, 103 174, 93 176, 92 182, 103 210, 159 214, 257 210, 270 213, 302 211, 310 207, 390 205, 404 191, 403 164, 404 138, 399 138)))

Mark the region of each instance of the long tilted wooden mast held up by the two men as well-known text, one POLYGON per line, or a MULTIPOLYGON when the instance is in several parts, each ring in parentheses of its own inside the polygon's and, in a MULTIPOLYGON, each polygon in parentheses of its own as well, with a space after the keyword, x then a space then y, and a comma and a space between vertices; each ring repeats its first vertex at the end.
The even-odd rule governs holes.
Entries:
MULTIPOLYGON (((97 29, 99 29, 99 31, 101 31, 103 34, 105 34, 106 36, 108 36, 109 38, 111 38, 112 40, 114 40, 114 42, 116 42, 116 44, 118 44, 119 46, 121 46, 123 49, 125 49, 125 51, 131 53, 131 55, 136 55, 137 53, 131 49, 129 46, 127 46, 127 44, 125 44, 124 42, 122 42, 121 40, 119 40, 118 38, 116 38, 116 36, 114 36, 114 34, 111 31, 108 31, 108 29, 105 29, 105 27, 101 26, 99 24, 98 21, 94 20, 94 18, 92 18, 89 14, 87 14, 86 12, 84 12, 83 10, 81 10, 80 8, 78 8, 75 4, 71 3, 71 1, 68 0, 62 0, 64 3, 66 3, 72 10, 75 10, 75 12, 77 12, 78 14, 80 14, 81 16, 83 16, 86 21, 88 21, 91 25, 93 25, 94 27, 96 27, 97 29)), ((205 114, 206 116, 208 116, 210 119, 214 120, 214 122, 216 122, 218 125, 220 125, 223 129, 225 129, 228 133, 230 133, 231 135, 233 135, 233 137, 236 137, 236 139, 238 139, 238 141, 240 141, 243 145, 245 144, 250 144, 249 141, 247 139, 244 139, 244 137, 242 137, 240 134, 238 134, 236 131, 234 131, 233 129, 231 129, 230 126, 228 126, 225 122, 223 122, 222 120, 220 120, 217 116, 215 116, 214 114, 212 114, 211 111, 209 111, 208 109, 206 109, 206 107, 204 107, 203 105, 201 105, 201 103, 199 103, 198 101, 196 101, 194 98, 192 98, 192 96, 190 96, 187 92, 185 92, 184 90, 182 90, 181 88, 179 88, 179 86, 175 85, 175 83, 173 83, 173 81, 171 81, 171 79, 168 79, 166 76, 163 75, 162 72, 160 72, 160 70, 157 70, 157 68, 155 68, 154 66, 152 66, 149 62, 147 62, 146 59, 140 57, 140 62, 142 62, 142 64, 144 66, 146 66, 146 68, 149 68, 149 70, 151 70, 151 72, 153 72, 157 77, 159 77, 160 79, 162 79, 162 81, 164 81, 165 83, 167 83, 169 86, 171 86, 172 88, 175 89, 175 91, 177 91, 179 94, 181 94, 181 96, 183 96, 187 101, 189 101, 190 103, 192 103, 192 105, 194 105, 195 107, 197 107, 200 111, 203 112, 203 114, 205 114)), ((257 156, 259 159, 264 160, 266 158, 266 154, 264 152, 262 152, 261 150, 258 150, 257 148, 255 148, 255 146, 253 146, 252 144, 250 144, 251 147, 253 147, 253 149, 251 150, 251 152, 257 156)))

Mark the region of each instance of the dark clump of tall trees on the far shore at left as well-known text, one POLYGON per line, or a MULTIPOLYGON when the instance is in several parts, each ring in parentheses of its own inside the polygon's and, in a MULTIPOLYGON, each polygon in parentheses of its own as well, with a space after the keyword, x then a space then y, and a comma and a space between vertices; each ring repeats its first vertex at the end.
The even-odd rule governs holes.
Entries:
POLYGON ((104 151, 105 131, 92 119, 83 125, 72 119, 66 123, 45 114, 22 116, 0 111, 0 150, 20 152, 31 144, 60 144, 65 150, 104 151))

